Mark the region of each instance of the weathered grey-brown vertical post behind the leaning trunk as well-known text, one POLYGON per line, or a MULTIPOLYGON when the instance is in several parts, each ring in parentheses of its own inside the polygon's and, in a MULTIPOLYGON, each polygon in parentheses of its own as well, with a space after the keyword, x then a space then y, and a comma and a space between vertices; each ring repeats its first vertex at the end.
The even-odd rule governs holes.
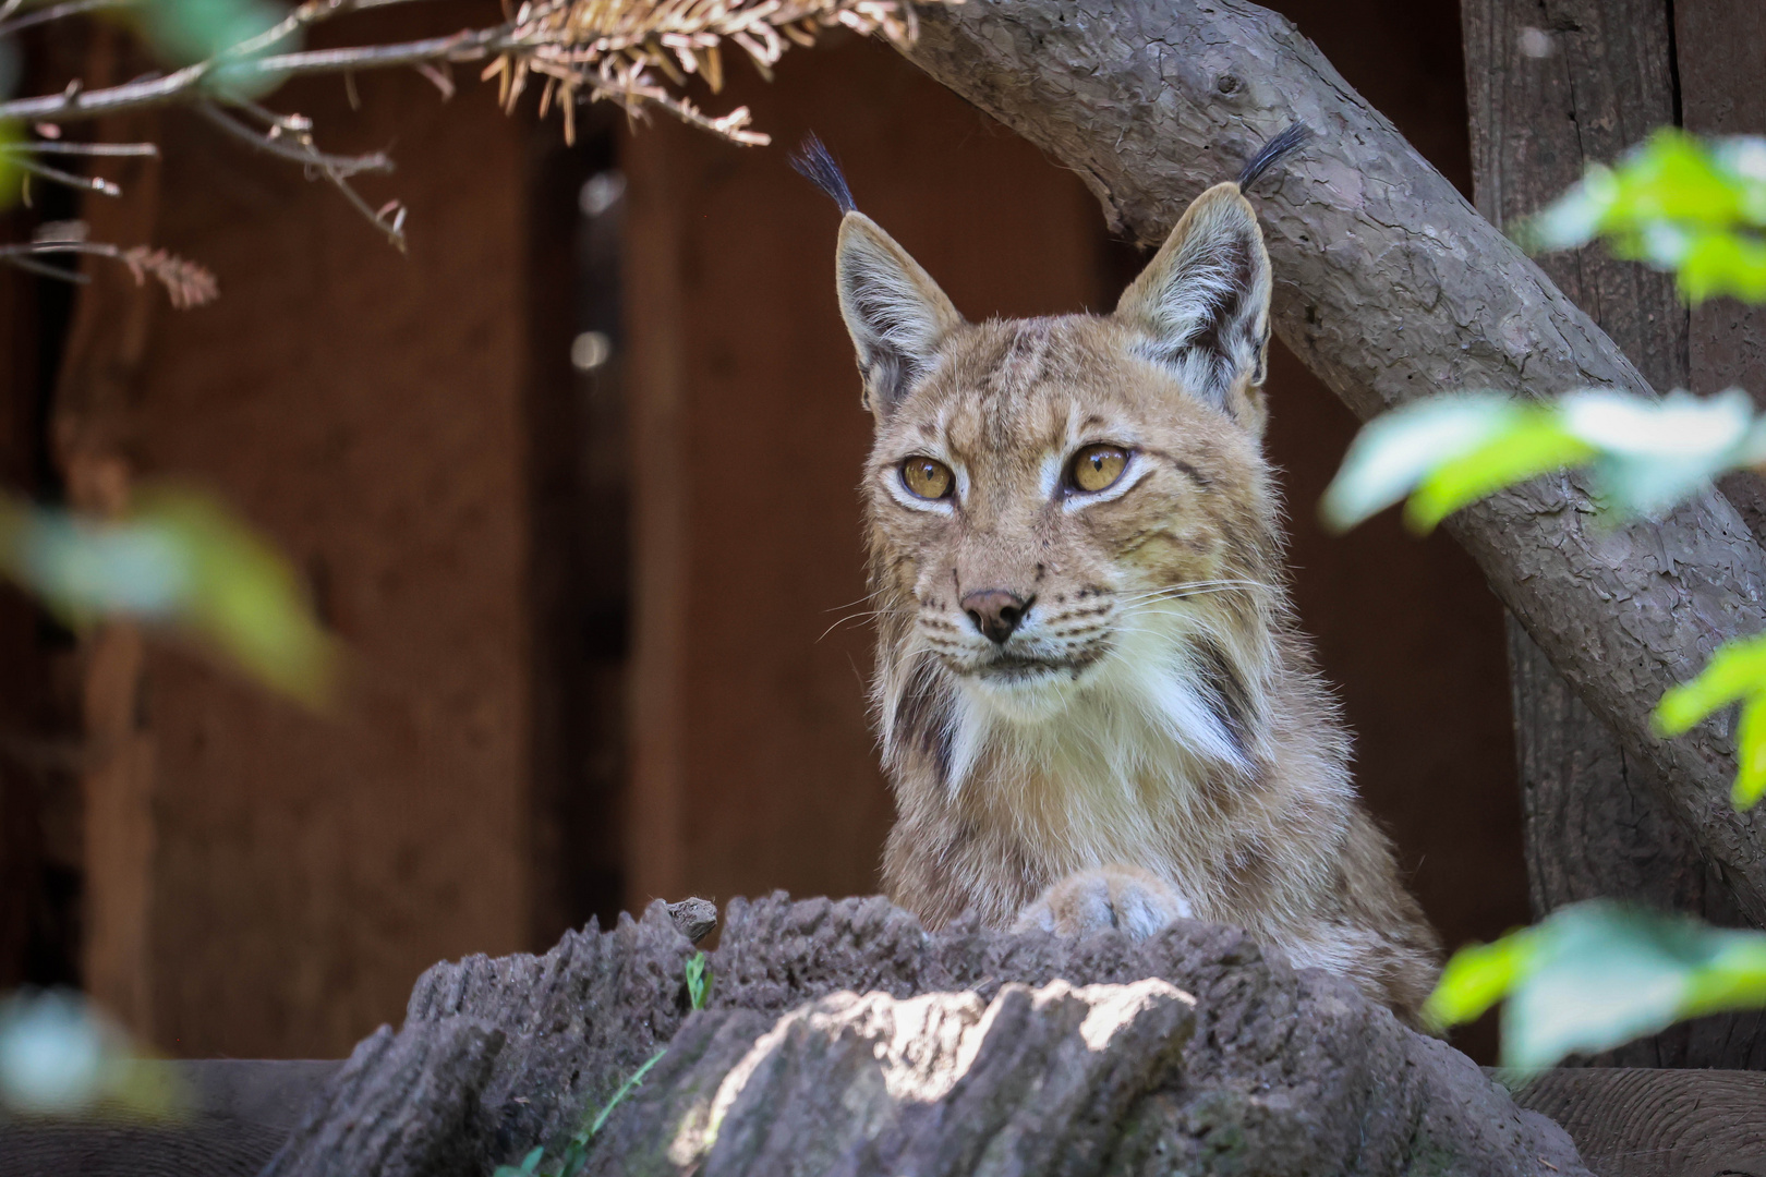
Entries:
MULTIPOLYGON (((1464 0, 1460 16, 1476 205, 1496 226, 1543 206, 1588 162, 1676 122, 1667 0, 1464 0)), ((1551 254, 1540 266, 1657 388, 1717 386, 1692 379, 1688 312, 1671 275, 1600 247, 1551 254)), ((1759 480, 1743 475, 1725 494, 1757 535, 1759 480)), ((1508 630, 1535 916, 1614 896, 1736 923, 1727 889, 1649 780, 1649 762, 1625 752, 1521 625, 1510 619, 1508 630)), ((1766 1066, 1761 1023, 1757 1011, 1702 1018, 1596 1061, 1766 1066)))

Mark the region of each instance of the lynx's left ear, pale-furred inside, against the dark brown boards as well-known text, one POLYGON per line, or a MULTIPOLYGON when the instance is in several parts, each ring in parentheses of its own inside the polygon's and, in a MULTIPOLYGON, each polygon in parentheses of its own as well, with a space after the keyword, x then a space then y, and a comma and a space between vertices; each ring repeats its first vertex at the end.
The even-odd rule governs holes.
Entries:
POLYGON ((862 212, 848 212, 835 247, 841 314, 858 349, 865 406, 887 416, 962 325, 938 282, 862 212))

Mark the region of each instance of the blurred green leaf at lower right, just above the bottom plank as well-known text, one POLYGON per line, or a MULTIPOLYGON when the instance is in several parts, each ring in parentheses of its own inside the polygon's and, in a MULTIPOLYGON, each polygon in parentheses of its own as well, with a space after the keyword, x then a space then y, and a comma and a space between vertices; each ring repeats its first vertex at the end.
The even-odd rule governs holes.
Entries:
POLYGON ((1503 1008, 1503 1066, 1536 1071, 1681 1018, 1766 1004, 1766 932, 1711 928, 1605 900, 1460 949, 1427 1011, 1441 1025, 1503 1008))

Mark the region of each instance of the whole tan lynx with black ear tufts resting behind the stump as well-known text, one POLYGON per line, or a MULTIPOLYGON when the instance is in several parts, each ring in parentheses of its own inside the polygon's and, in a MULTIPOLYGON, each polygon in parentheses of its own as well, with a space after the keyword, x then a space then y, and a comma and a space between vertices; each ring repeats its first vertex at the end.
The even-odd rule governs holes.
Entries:
POLYGON ((1270 259, 1203 192, 1114 314, 966 323, 857 212, 883 882, 929 926, 1231 923, 1415 1022, 1439 946, 1356 799, 1263 457, 1270 259))

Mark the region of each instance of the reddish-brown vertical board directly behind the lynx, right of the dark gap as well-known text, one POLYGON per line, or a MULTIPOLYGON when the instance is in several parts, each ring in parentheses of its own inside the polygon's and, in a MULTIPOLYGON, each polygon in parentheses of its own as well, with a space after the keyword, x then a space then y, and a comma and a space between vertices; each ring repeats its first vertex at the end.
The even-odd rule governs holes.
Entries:
POLYGON ((892 821, 865 716, 871 416, 834 302, 839 214, 784 148, 821 134, 865 212, 971 318, 1100 304, 1084 187, 885 46, 789 55, 772 85, 733 71, 719 108, 752 106, 774 148, 659 124, 629 141, 634 348, 676 348, 636 362, 678 369, 632 392, 639 461, 659 468, 638 478, 655 579, 639 574, 629 907, 871 893, 892 821), (673 535, 652 529, 664 510, 673 535))

